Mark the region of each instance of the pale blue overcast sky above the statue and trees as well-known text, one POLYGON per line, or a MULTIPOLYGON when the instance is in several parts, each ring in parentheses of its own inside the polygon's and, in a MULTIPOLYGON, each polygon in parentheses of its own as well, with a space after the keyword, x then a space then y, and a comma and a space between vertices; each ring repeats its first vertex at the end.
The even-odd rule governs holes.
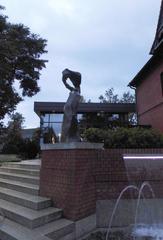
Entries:
POLYGON ((66 101, 65 68, 82 74, 82 95, 98 101, 110 87, 121 94, 149 59, 161 0, 0 0, 13 23, 23 23, 48 40, 49 60, 41 92, 17 111, 25 127, 38 127, 34 101, 66 101))

